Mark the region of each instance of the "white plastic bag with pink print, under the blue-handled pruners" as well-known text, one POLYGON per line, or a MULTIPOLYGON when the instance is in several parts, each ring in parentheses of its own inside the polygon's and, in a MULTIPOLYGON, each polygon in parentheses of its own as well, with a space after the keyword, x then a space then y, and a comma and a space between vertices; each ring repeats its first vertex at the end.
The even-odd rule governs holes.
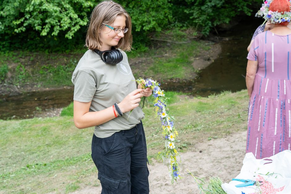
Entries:
POLYGON ((223 183, 221 187, 228 194, 291 194, 291 151, 284 150, 274 156, 256 159, 253 153, 246 153, 241 173, 236 179, 262 180, 262 186, 237 188, 239 181, 223 183))

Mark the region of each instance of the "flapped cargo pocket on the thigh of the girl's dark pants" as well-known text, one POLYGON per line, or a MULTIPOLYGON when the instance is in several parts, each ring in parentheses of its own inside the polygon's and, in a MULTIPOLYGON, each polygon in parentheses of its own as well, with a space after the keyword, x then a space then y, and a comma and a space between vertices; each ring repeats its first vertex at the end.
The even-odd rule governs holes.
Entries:
POLYGON ((104 194, 118 194, 119 180, 110 179, 98 172, 98 179, 104 194))

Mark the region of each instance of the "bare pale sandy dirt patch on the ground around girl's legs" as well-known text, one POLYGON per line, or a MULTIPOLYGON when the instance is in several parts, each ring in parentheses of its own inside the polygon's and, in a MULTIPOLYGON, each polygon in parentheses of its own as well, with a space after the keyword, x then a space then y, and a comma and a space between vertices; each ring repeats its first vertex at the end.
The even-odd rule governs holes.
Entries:
MULTIPOLYGON (((246 131, 236 132, 227 137, 212 139, 195 144, 192 151, 181 153, 180 171, 183 179, 171 184, 167 164, 154 161, 150 164, 151 194, 198 194, 198 184, 187 174, 187 169, 199 178, 219 176, 223 182, 235 178, 241 170, 245 156, 246 131)), ((81 188, 74 194, 101 193, 98 187, 81 188)))

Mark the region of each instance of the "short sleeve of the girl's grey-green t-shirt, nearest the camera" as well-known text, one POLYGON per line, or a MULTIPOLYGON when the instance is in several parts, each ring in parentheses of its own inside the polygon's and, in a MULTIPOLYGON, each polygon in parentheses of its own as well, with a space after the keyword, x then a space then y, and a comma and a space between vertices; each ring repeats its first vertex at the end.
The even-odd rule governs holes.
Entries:
POLYGON ((77 70, 74 73, 72 82, 74 88, 74 100, 80 102, 90 102, 96 93, 96 81, 89 73, 77 70))

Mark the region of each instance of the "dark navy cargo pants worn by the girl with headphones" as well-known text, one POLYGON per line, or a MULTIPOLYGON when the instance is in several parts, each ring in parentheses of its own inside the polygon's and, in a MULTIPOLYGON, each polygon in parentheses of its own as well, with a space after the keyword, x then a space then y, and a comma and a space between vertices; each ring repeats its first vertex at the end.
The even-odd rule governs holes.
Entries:
POLYGON ((149 193, 145 132, 142 123, 110 137, 93 134, 92 159, 102 194, 149 193))

